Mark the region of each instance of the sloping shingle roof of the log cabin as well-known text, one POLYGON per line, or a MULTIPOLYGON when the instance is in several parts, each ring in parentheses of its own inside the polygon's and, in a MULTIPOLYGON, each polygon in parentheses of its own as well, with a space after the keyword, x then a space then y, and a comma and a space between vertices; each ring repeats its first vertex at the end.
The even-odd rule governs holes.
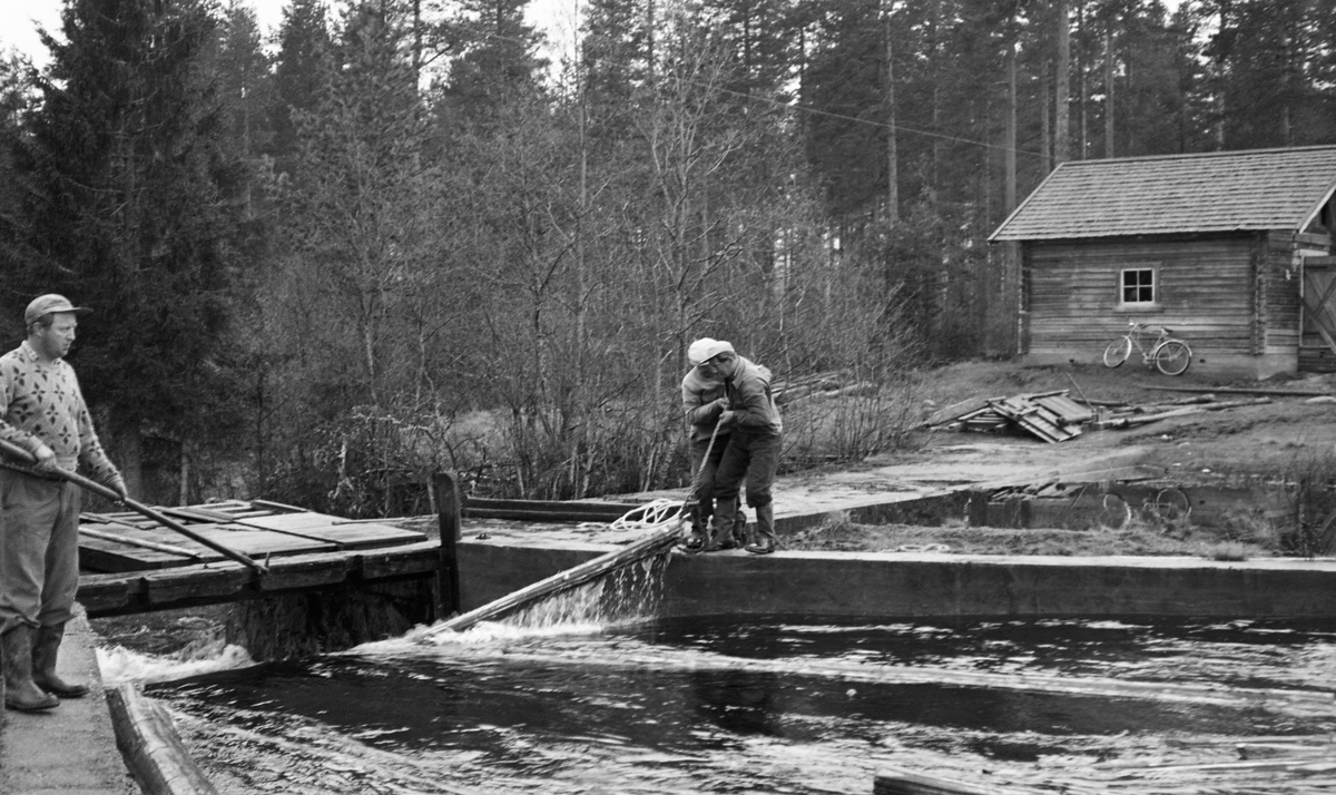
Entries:
POLYGON ((1058 166, 990 241, 1295 230, 1336 188, 1336 146, 1058 166))

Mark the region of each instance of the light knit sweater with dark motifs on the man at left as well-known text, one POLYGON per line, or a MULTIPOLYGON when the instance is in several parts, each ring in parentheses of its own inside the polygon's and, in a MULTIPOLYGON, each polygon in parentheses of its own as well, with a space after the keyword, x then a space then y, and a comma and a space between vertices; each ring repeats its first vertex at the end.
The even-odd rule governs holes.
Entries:
MULTIPOLYGON (((65 472, 83 464, 100 482, 120 480, 98 441, 75 369, 64 359, 43 362, 27 342, 0 357, 0 440, 33 454, 45 444, 65 472)), ((0 464, 32 472, 12 461, 0 464)))

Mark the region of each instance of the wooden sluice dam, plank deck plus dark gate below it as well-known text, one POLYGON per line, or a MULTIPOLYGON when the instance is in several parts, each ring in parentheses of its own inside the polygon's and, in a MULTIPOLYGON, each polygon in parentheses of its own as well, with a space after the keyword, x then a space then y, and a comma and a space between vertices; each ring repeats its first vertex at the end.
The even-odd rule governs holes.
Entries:
MULTIPOLYGON (((525 533, 554 524, 607 524, 637 508, 462 498, 450 476, 438 476, 436 486, 434 532, 265 500, 156 509, 198 540, 138 513, 84 513, 77 599, 91 619, 231 605, 227 639, 254 657, 317 653, 458 613, 456 545, 465 521, 470 532, 481 526, 480 533, 525 533), (240 565, 236 557, 262 565, 240 565)), ((652 546, 667 544, 660 538, 652 546)))

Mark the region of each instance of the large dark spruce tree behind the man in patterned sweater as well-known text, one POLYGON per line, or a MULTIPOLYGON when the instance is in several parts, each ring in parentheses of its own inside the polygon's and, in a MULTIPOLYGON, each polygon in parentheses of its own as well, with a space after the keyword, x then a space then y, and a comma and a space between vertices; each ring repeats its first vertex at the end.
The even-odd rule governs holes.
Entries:
POLYGON ((9 313, 64 293, 96 309, 75 351, 135 485, 142 434, 230 422, 238 178, 222 144, 216 24, 196 0, 69 0, 65 41, 16 150, 24 243, 9 313))

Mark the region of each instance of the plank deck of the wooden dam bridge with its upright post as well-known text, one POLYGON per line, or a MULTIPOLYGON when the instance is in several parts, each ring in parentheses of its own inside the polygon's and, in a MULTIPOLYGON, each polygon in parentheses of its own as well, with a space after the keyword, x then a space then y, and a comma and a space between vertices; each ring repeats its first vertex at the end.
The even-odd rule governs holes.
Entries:
MULTIPOLYGON (((227 500, 159 508, 200 542, 134 512, 81 516, 79 603, 90 617, 120 616, 267 596, 375 591, 407 584, 429 595, 415 620, 460 609, 457 542, 465 517, 501 522, 611 522, 635 504, 460 497, 453 477, 437 477, 438 526, 405 529, 393 520, 347 520, 270 502, 227 500), (223 546, 261 565, 230 560, 223 546), (425 591, 424 591, 425 589, 425 591)), ((421 607, 421 605, 420 605, 421 607)))

